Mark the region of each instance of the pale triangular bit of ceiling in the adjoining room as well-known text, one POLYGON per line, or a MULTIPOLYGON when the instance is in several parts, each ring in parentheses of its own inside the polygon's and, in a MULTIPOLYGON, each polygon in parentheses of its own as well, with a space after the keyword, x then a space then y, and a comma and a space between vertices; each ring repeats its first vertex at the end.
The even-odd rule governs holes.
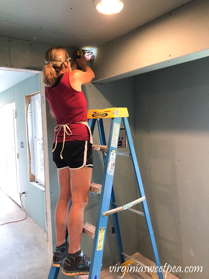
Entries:
POLYGON ((0 92, 7 90, 15 84, 34 76, 34 73, 0 70, 0 92))

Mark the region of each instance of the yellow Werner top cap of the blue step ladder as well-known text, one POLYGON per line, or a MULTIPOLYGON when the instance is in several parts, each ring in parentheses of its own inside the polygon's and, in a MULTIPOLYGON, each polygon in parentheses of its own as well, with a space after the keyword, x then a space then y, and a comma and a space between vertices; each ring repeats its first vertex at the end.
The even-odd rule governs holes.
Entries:
POLYGON ((128 117, 127 108, 104 108, 91 109, 88 111, 87 118, 113 118, 113 117, 128 117))

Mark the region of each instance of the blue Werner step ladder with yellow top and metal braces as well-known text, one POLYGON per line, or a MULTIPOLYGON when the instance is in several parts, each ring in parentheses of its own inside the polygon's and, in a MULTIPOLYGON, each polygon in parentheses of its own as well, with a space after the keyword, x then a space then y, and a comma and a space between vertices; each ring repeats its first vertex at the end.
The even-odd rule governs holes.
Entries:
MULTIPOLYGON (((128 109, 127 108, 106 108, 100 110, 89 110, 88 112, 88 119, 89 119, 89 126, 91 128, 92 135, 94 133, 94 127, 96 122, 98 123, 98 130, 100 136, 101 145, 93 145, 92 149, 101 151, 103 154, 104 160, 104 175, 102 180, 102 185, 97 183, 91 183, 90 193, 89 196, 94 196, 96 194, 100 194, 100 202, 98 207, 98 216, 97 216, 97 223, 96 227, 93 225, 84 222, 83 233, 87 234, 89 237, 94 239, 93 250, 91 255, 91 264, 90 264, 90 271, 89 275, 79 275, 75 276, 76 278, 83 278, 83 279, 99 279, 100 271, 101 271, 101 263, 102 263, 102 255, 103 255, 103 247, 105 241, 105 234, 107 228, 107 219, 109 215, 113 215, 114 227, 115 227, 115 235, 117 240, 117 247, 119 253, 119 259, 121 266, 127 267, 129 264, 135 262, 143 267, 146 268, 146 265, 140 263, 136 259, 133 259, 129 255, 123 252, 122 241, 120 236, 120 228, 118 222, 117 213, 122 210, 130 210, 133 213, 139 214, 146 219, 147 229, 150 236, 151 246, 155 258, 156 266, 160 268, 160 261, 159 255, 155 243, 155 237, 151 225, 150 215, 146 203, 146 197, 144 193, 144 188, 142 185, 142 179, 139 172, 139 167, 137 163, 137 157, 133 146, 133 140, 128 124, 128 109), (111 118, 111 125, 110 125, 110 134, 108 139, 108 144, 106 144, 105 133, 104 133, 104 126, 103 126, 103 118, 111 118), (118 152, 118 138, 120 132, 120 123, 121 118, 124 123, 125 133, 127 136, 128 146, 130 153, 125 152, 118 152), (129 202, 124 206, 120 206, 118 203, 115 202, 115 195, 113 189, 113 176, 115 170, 115 159, 116 155, 124 155, 128 156, 133 162, 133 168, 135 171, 138 189, 141 198, 129 202), (132 209, 131 207, 139 202, 142 202, 142 207, 144 212, 140 212, 138 210, 132 209), (109 210, 109 206, 111 203, 111 210, 109 210), (124 257, 127 257, 129 260, 125 262, 124 257)), ((66 233, 66 239, 68 237, 68 233, 66 233)), ((159 279, 163 279, 162 270, 158 270, 157 272, 153 271, 150 272, 153 278, 156 278, 155 274, 158 274, 159 279)), ((56 268, 51 265, 50 273, 48 279, 58 278, 59 268, 56 268)))

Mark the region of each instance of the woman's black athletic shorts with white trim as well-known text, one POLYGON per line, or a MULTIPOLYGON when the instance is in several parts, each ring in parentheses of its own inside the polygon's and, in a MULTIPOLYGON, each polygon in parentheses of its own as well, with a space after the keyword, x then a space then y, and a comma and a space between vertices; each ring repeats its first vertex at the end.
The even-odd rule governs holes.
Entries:
MULTIPOLYGON (((53 144, 53 149, 55 143, 53 144)), ((81 169, 83 166, 93 168, 92 144, 89 140, 71 140, 65 141, 62 157, 60 153, 63 148, 63 142, 58 142, 53 152, 53 161, 57 169, 69 168, 71 170, 81 169)))

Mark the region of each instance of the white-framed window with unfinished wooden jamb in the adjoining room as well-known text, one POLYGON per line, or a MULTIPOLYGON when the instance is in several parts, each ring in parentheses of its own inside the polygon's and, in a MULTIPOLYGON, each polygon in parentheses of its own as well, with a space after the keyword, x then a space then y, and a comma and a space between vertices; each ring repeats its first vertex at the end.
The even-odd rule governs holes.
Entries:
POLYGON ((28 149, 30 151, 30 181, 35 180, 44 185, 44 152, 40 93, 30 96, 27 111, 27 126, 29 143, 28 149))

